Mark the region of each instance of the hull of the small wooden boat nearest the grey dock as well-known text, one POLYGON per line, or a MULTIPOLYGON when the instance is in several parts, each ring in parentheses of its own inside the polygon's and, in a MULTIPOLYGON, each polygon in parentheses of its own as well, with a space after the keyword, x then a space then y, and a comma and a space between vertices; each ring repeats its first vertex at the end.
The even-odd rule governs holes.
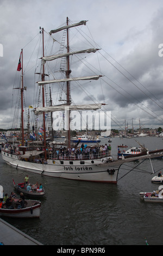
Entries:
POLYGON ((21 209, 0 208, 0 216, 12 218, 39 218, 41 202, 37 200, 25 200, 25 207, 21 209))

